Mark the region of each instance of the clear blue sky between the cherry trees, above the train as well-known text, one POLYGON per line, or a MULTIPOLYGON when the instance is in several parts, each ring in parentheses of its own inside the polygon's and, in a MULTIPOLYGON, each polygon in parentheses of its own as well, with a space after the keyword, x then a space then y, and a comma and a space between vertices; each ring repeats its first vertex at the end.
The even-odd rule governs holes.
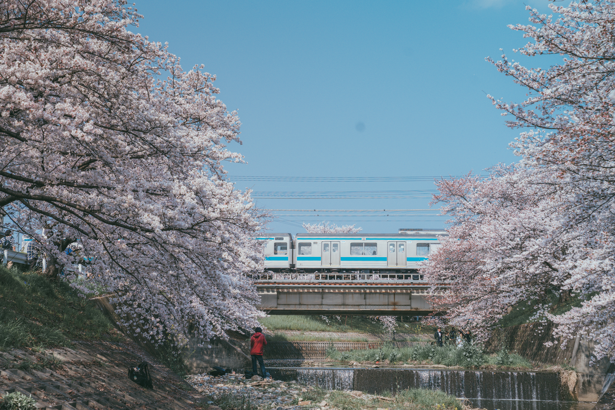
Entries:
MULTIPOLYGON (((525 92, 485 57, 499 58, 503 49, 523 63, 547 66, 512 55, 527 40, 507 25, 528 22, 525 4, 549 12, 546 0, 175 0, 172 7, 168 0, 145 0, 137 2, 145 18, 135 31, 169 42, 184 69, 202 63, 216 74, 220 100, 243 124, 242 146, 229 149, 247 161, 226 169, 237 188, 255 191, 259 207, 426 209, 432 179, 339 178, 463 175, 514 162, 508 144, 520 131, 504 125, 486 94, 521 101, 525 92), (337 198, 296 198, 312 192, 337 198), (387 198, 394 196, 402 198, 387 198)), ((274 213, 287 215, 270 229, 293 234, 303 232, 301 221, 322 220, 357 223, 373 233, 445 227, 437 211, 274 213)))

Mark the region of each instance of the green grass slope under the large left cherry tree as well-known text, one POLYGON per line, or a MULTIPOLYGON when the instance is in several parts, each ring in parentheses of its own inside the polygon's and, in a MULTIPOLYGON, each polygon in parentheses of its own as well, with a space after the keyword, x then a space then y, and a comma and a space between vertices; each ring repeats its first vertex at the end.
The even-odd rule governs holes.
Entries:
POLYGON ((68 283, 0 266, 0 349, 98 339, 113 325, 68 283))

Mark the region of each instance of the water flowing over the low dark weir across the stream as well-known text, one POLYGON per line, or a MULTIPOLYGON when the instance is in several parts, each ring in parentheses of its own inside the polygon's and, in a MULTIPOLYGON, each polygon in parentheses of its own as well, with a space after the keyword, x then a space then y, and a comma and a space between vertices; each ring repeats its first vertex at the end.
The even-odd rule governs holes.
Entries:
POLYGON ((407 388, 443 390, 479 408, 567 410, 591 408, 573 401, 558 373, 463 369, 268 368, 281 380, 328 390, 395 393, 407 388))

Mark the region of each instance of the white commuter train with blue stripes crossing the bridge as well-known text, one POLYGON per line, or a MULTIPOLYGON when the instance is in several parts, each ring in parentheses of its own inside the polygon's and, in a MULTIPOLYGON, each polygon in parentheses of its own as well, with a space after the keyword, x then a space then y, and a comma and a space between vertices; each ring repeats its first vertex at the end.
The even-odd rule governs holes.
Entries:
POLYGON ((423 279, 419 262, 447 236, 444 229, 400 229, 397 234, 269 234, 264 272, 314 274, 315 279, 423 279))

